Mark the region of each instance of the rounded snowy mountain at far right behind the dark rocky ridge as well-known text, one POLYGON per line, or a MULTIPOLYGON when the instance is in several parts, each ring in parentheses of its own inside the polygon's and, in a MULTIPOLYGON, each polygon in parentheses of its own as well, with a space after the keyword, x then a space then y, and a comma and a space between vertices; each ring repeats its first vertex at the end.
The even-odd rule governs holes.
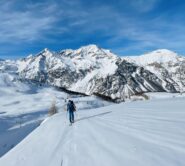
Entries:
POLYGON ((141 56, 123 59, 143 66, 160 79, 173 84, 177 91, 185 90, 185 58, 170 50, 161 49, 141 56))

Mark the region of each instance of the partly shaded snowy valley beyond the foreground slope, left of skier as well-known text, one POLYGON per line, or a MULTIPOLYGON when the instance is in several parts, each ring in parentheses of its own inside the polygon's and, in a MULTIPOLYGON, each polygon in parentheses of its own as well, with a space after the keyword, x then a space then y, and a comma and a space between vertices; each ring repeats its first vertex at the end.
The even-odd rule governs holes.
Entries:
POLYGON ((53 100, 62 111, 69 96, 81 110, 108 104, 93 96, 71 96, 52 87, 20 82, 14 74, 0 73, 0 157, 47 118, 53 100))

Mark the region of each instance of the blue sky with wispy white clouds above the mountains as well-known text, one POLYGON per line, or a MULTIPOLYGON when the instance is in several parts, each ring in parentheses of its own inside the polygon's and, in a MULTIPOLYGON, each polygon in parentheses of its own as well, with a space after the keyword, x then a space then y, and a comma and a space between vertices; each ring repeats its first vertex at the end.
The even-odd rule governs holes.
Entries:
POLYGON ((185 55, 183 0, 0 0, 0 58, 97 44, 118 55, 185 55))

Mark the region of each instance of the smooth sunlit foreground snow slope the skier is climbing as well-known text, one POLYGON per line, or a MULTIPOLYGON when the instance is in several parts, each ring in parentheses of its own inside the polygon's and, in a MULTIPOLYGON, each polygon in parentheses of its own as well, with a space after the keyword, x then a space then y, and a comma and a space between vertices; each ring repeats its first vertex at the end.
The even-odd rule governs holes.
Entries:
POLYGON ((2 166, 184 166, 184 98, 57 114, 0 158, 2 166))

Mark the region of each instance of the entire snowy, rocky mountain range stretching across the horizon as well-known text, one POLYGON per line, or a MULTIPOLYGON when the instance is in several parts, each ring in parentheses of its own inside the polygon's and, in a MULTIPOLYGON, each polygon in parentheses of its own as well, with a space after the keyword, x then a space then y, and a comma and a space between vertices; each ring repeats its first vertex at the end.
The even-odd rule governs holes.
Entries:
POLYGON ((13 81, 50 85, 116 102, 146 92, 183 92, 185 57, 170 50, 120 57, 96 45, 53 52, 44 49, 19 60, 0 60, 13 81))

